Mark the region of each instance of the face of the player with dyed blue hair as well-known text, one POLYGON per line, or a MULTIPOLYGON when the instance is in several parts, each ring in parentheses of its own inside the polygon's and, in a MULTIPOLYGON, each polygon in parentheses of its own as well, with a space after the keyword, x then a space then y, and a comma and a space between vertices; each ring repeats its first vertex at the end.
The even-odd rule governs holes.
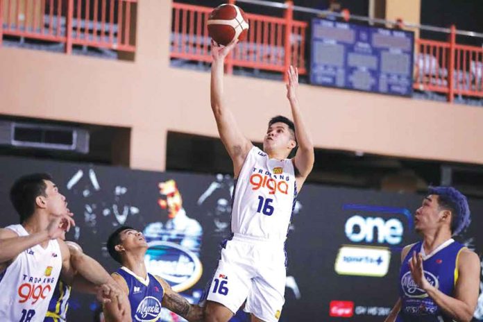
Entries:
POLYGON ((417 232, 437 230, 441 226, 442 210, 439 208, 438 196, 430 194, 423 199, 421 207, 414 214, 414 228, 417 232))

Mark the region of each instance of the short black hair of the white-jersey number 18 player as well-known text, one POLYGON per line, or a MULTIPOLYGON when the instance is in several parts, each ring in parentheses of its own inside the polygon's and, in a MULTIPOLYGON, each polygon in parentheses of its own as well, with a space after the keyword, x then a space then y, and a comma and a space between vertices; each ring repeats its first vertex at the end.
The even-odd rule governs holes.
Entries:
POLYGON ((22 176, 15 180, 10 188, 10 201, 23 223, 35 212, 35 198, 46 196, 45 181, 52 181, 52 176, 48 173, 32 173, 22 176))

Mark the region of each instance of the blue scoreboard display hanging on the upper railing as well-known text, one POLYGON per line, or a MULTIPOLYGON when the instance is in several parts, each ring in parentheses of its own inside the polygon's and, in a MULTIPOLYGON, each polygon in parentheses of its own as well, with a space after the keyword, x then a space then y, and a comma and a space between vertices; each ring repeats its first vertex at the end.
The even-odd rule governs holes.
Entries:
POLYGON ((414 33, 312 20, 310 82, 366 92, 412 94, 414 33))

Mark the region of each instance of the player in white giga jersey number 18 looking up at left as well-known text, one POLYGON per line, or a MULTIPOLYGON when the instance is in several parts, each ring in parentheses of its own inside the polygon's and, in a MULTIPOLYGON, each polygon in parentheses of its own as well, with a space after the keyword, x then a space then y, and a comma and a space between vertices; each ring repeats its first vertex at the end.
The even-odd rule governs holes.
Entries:
MULTIPOLYGON (((77 277, 60 239, 75 223, 65 196, 47 174, 19 178, 10 200, 21 223, 0 229, 0 321, 41 322, 60 273, 65 280, 77 277)), ((112 294, 118 289, 83 263, 76 269, 94 285, 111 285, 112 294)))

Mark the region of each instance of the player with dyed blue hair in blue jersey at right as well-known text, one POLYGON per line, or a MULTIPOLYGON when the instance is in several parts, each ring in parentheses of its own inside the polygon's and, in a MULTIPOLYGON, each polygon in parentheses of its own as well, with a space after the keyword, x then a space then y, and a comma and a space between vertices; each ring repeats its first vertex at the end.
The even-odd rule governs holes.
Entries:
POLYGON ((430 187, 414 214, 422 242, 402 250, 399 299, 386 322, 471 321, 480 288, 480 259, 455 242, 470 223, 466 197, 430 187))

